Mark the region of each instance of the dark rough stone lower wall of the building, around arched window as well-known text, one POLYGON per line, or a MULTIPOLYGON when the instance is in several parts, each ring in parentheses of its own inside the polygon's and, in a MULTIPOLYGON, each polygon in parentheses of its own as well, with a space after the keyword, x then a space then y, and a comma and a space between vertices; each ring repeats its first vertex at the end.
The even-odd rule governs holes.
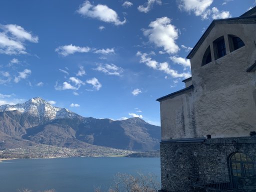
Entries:
POLYGON ((255 163, 256 137, 209 138, 202 142, 162 141, 161 191, 193 191, 193 184, 203 183, 214 175, 227 175, 229 179, 229 156, 237 151, 247 154, 255 163))

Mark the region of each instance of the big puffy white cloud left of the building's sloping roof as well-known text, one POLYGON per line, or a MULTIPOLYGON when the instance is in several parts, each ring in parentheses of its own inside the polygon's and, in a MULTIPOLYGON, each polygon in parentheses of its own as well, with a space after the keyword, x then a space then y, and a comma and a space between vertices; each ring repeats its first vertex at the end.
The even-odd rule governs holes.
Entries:
POLYGON ((148 36, 149 42, 157 47, 163 47, 167 53, 176 53, 179 50, 175 40, 178 38, 178 29, 170 24, 168 17, 157 18, 148 25, 150 29, 144 29, 143 33, 148 36))

